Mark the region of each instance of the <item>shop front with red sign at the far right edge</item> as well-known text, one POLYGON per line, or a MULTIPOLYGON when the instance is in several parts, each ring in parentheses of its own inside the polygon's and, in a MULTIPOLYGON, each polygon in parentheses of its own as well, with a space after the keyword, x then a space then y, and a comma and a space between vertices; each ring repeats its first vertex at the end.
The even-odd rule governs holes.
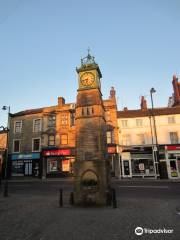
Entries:
POLYGON ((180 178, 180 145, 165 146, 168 178, 180 178))

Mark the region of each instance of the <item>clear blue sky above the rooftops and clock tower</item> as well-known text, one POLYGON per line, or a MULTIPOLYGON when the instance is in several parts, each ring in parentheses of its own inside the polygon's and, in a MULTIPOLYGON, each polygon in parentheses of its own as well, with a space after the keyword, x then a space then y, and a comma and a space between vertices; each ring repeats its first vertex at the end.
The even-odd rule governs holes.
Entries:
POLYGON ((179 0, 0 0, 0 105, 14 113, 58 96, 74 102, 90 47, 104 98, 114 86, 119 109, 134 109, 154 87, 155 106, 166 106, 180 73, 179 13, 179 0))

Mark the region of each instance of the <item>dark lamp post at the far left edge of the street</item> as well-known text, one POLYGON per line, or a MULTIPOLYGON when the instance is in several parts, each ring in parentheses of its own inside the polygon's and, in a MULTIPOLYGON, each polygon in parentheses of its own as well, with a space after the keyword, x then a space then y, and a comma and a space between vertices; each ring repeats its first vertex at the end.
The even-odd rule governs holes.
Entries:
POLYGON ((2 110, 8 110, 8 122, 7 122, 7 140, 6 140, 6 162, 5 162, 5 183, 4 183, 4 197, 8 197, 8 143, 9 143, 9 116, 10 116, 10 106, 3 106, 2 110))

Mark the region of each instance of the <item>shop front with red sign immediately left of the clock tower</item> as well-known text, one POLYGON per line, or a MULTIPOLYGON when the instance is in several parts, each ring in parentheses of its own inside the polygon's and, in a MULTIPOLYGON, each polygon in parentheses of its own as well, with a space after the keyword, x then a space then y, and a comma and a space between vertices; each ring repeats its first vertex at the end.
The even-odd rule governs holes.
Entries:
POLYGON ((68 149, 44 149, 43 174, 42 177, 66 177, 73 174, 73 162, 75 161, 75 151, 68 149))

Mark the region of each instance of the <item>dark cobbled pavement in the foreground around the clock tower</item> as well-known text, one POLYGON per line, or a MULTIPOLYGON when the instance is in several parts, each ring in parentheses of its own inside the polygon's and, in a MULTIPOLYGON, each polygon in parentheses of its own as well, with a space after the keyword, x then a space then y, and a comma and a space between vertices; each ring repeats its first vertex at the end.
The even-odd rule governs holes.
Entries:
MULTIPOLYGON (((124 189, 124 188, 123 188, 124 189)), ((54 189, 55 190, 55 189, 54 189)), ((65 195, 63 208, 58 207, 58 192, 48 194, 33 190, 0 193, 1 240, 134 240, 180 239, 180 200, 178 198, 122 198, 118 208, 76 208, 65 195), (136 236, 137 227, 174 229, 173 234, 136 236)), ((119 190, 120 191, 120 190, 119 190)), ((127 189, 131 191, 131 189, 127 189)), ((149 190, 148 190, 149 191, 149 190)))

